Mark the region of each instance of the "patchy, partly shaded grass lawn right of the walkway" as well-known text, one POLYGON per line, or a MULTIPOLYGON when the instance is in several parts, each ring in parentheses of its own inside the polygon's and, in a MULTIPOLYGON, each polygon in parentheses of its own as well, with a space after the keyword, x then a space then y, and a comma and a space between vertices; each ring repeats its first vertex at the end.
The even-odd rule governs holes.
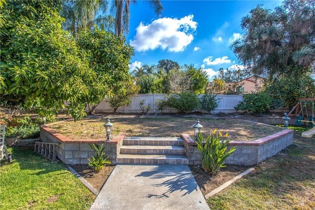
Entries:
POLYGON ((294 143, 209 198, 210 209, 315 209, 315 138, 302 138, 304 129, 289 128, 295 129, 294 143))

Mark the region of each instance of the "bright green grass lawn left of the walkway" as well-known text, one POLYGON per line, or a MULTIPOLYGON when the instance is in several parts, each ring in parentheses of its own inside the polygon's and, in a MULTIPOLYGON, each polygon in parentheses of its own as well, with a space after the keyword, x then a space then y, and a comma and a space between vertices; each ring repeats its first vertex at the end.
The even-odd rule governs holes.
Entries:
POLYGON ((9 150, 12 162, 0 166, 0 209, 84 210, 94 201, 63 163, 52 163, 32 147, 9 150))

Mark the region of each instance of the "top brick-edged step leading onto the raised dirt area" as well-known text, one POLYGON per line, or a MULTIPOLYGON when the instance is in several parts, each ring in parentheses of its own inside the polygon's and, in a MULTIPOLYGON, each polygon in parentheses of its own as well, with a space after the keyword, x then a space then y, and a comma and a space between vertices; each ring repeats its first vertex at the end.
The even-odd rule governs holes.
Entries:
POLYGON ((184 141, 180 137, 126 137, 124 145, 183 146, 184 141))

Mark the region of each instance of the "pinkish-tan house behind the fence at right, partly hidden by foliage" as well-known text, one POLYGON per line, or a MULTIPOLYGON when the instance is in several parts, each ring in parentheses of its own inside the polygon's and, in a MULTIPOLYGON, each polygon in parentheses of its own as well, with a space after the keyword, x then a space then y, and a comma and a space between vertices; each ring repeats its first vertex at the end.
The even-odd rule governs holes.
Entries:
POLYGON ((226 83, 224 87, 225 94, 243 94, 258 92, 262 89, 264 78, 251 76, 237 83, 226 83))

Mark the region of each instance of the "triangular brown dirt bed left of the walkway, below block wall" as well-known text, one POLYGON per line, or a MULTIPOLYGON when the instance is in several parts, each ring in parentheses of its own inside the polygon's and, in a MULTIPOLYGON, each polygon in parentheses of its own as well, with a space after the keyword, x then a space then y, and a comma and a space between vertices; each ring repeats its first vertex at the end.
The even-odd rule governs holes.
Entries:
POLYGON ((99 173, 95 173, 89 165, 71 166, 81 177, 87 180, 97 191, 100 191, 109 175, 114 170, 114 165, 107 165, 99 173))

